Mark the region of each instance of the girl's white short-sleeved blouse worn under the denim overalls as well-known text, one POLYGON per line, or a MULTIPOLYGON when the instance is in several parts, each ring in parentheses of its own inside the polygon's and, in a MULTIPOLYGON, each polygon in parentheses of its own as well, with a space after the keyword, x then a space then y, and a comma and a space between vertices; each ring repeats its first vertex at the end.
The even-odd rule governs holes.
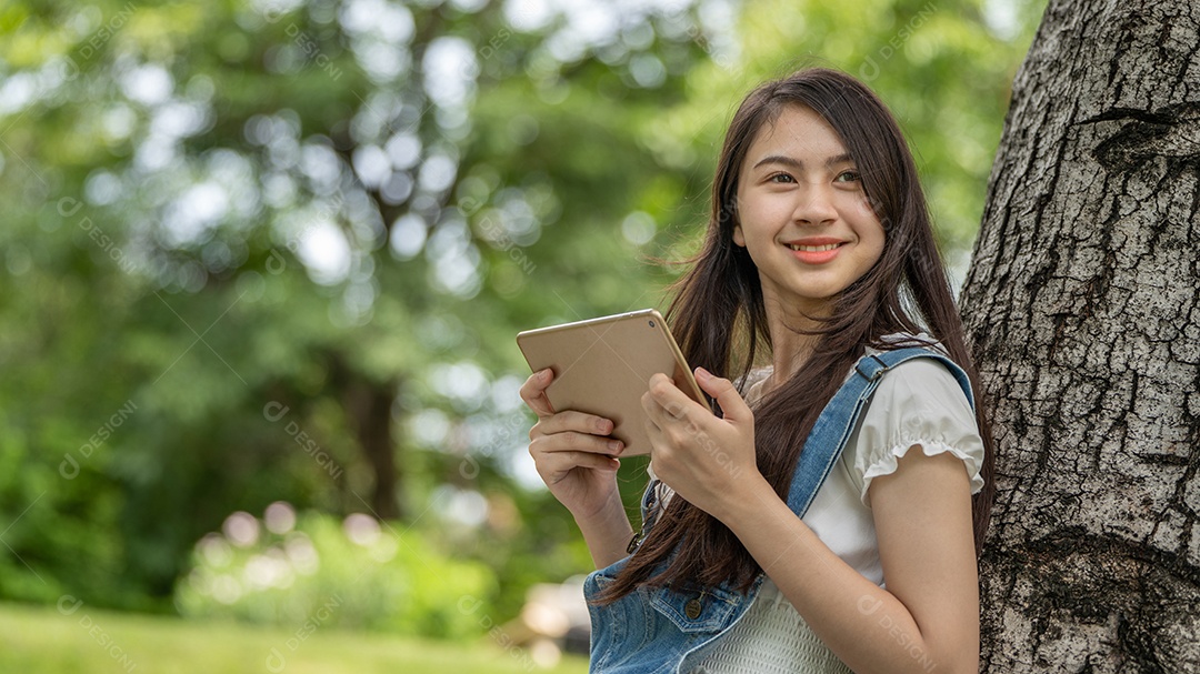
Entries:
MULTIPOLYGON (((878 353, 868 349, 868 354, 878 353)), ((756 407, 770 368, 748 378, 745 399, 756 407)), ((851 373, 853 375, 853 372, 851 373)), ((919 446, 925 456, 949 452, 962 459, 971 493, 983 487, 983 440, 962 389, 946 367, 917 359, 880 381, 836 467, 817 491, 803 522, 829 549, 865 578, 883 586, 871 481, 896 470, 896 461, 919 446)), ((653 469, 648 468, 650 476, 653 469)), ((662 505, 671 492, 664 489, 662 505)), ((800 614, 766 578, 746 614, 692 674, 794 674, 850 672, 812 633, 800 614)))

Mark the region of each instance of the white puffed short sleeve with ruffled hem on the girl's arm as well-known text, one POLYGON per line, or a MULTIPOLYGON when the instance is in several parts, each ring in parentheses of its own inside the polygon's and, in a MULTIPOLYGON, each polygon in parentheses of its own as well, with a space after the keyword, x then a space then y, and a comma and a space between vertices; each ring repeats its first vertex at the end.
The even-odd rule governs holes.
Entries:
POLYGON ((917 359, 888 372, 871 397, 856 433, 851 476, 870 507, 871 481, 896 470, 912 447, 925 456, 949 452, 962 459, 971 493, 983 488, 983 439, 971 403, 954 375, 937 361, 917 359))

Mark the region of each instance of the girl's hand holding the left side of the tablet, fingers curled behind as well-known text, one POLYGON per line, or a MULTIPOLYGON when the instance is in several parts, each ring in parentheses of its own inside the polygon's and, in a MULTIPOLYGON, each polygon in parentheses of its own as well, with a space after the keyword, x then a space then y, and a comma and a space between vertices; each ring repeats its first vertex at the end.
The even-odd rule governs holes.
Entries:
POLYGON ((611 420, 581 411, 556 413, 546 397, 554 380, 550 368, 533 373, 521 386, 521 399, 538 415, 529 431, 529 455, 538 474, 576 520, 590 519, 617 495, 616 458, 624 450, 620 440, 608 438, 611 420))

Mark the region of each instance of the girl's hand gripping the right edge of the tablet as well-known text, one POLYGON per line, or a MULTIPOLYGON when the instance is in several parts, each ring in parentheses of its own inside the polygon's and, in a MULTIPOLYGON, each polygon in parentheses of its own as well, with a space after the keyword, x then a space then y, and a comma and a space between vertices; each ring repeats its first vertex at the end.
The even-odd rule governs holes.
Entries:
POLYGON ((659 480, 696 507, 722 519, 727 506, 763 482, 754 444, 754 413, 728 379, 696 368, 696 383, 716 398, 718 417, 666 374, 642 396, 650 461, 659 480))

